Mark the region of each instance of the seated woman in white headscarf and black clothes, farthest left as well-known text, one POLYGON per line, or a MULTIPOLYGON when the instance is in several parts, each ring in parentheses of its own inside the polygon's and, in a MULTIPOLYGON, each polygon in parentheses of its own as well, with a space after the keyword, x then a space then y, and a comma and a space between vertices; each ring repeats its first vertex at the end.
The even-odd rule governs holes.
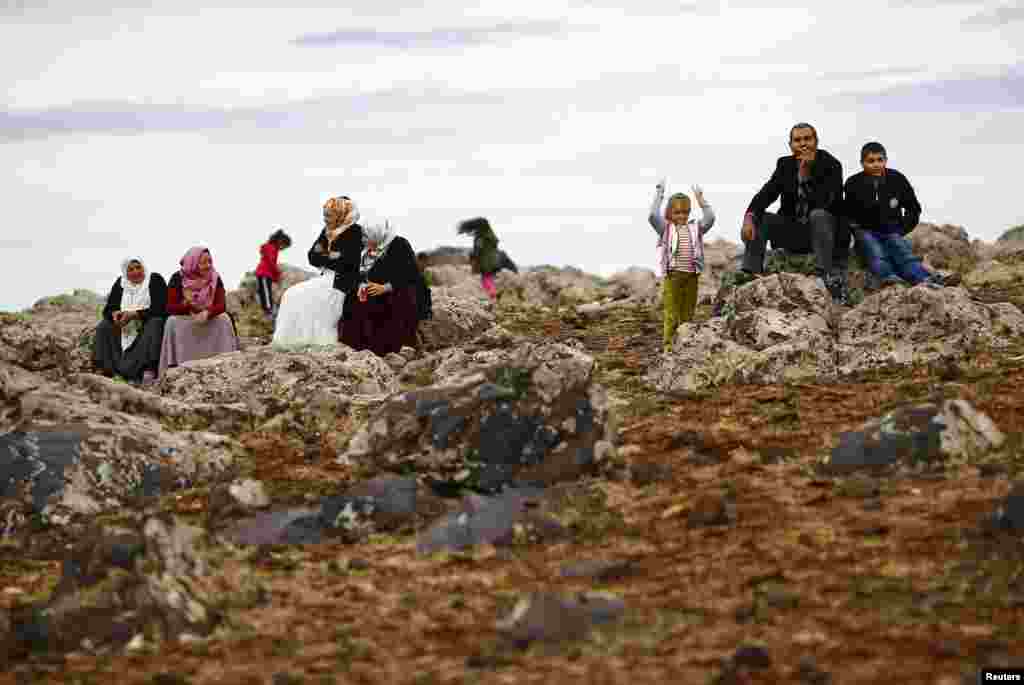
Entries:
POLYGON ((121 276, 106 296, 103 320, 96 327, 93 367, 106 377, 153 383, 160 366, 165 316, 164 276, 146 271, 141 259, 121 262, 121 276))

